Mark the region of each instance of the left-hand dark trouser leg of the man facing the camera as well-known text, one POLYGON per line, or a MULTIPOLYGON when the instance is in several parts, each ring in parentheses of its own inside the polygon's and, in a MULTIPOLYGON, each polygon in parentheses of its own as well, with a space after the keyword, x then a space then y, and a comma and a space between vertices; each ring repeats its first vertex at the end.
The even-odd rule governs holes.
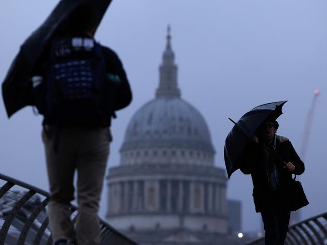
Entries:
POLYGON ((265 244, 280 245, 280 235, 278 228, 278 220, 275 209, 261 212, 262 221, 265 229, 265 244))

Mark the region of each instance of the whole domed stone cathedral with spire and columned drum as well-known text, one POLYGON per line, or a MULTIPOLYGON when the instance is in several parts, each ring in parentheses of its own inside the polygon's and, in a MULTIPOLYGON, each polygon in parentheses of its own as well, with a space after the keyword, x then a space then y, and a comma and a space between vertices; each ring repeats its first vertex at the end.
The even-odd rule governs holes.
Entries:
POLYGON ((228 235, 225 170, 214 166, 203 116, 181 98, 174 59, 169 31, 155 98, 131 118, 107 178, 107 220, 140 245, 238 244, 228 235))

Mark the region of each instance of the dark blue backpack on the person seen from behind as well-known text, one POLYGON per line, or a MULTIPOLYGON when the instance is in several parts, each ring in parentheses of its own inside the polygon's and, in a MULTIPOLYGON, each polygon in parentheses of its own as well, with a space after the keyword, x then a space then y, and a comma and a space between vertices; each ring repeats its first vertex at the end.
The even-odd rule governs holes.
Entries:
POLYGON ((105 60, 94 39, 54 40, 43 88, 39 88, 42 99, 35 93, 39 94, 36 108, 48 124, 102 124, 113 114, 106 81, 105 60))

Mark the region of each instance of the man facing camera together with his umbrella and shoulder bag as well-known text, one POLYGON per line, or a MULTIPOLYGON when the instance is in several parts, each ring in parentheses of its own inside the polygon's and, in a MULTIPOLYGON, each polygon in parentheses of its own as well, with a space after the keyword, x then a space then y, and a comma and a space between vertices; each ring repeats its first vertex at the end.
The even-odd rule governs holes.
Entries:
POLYGON ((244 114, 226 137, 224 159, 228 178, 240 169, 253 181, 253 199, 264 222, 267 245, 284 244, 290 211, 308 205, 303 188, 292 174, 304 164, 288 138, 276 134, 276 119, 287 101, 257 106, 244 114))

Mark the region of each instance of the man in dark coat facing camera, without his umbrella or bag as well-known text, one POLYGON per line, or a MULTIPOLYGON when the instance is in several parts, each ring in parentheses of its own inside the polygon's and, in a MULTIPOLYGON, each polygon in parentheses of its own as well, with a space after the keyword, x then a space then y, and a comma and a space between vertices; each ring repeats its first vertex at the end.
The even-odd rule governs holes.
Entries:
POLYGON ((264 222, 265 244, 284 244, 290 219, 292 174, 304 164, 288 138, 276 134, 279 124, 267 118, 244 146, 240 170, 251 174, 256 212, 264 222))

